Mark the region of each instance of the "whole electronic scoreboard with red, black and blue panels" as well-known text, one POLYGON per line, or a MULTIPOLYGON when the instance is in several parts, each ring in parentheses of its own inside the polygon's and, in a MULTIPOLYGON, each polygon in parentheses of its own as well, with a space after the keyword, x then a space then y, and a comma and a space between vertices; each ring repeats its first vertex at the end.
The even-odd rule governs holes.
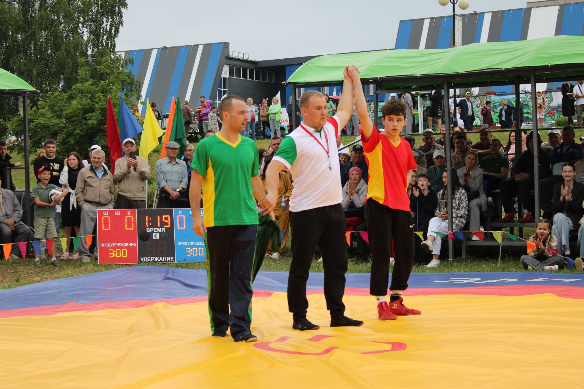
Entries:
POLYGON ((205 255, 190 209, 98 209, 99 264, 196 262, 205 255))

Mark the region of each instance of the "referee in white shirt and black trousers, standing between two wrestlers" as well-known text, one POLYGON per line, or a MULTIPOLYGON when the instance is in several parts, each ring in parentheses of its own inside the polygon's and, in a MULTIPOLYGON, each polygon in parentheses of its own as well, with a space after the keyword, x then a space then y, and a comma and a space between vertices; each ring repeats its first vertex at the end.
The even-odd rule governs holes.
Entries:
POLYGON ((345 316, 347 246, 345 213, 340 205, 340 167, 336 136, 353 110, 353 83, 345 68, 343 96, 336 114, 327 120, 324 95, 311 90, 300 98, 304 121, 286 136, 266 171, 267 201, 276 204, 279 172, 290 170, 294 189, 290 197, 292 263, 288 276, 288 310, 295 330, 318 330, 307 320, 306 282, 315 248, 322 253, 326 309, 331 327, 359 326, 363 321, 345 316))

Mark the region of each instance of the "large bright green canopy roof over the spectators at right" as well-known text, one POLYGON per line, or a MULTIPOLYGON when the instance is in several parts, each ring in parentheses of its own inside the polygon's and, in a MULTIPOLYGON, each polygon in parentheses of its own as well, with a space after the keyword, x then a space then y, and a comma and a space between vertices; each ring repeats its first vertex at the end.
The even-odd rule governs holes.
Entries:
MULTIPOLYGON (((376 83, 385 89, 433 87, 440 78, 449 83, 514 82, 511 69, 539 68, 538 78, 581 75, 584 65, 575 52, 584 48, 582 36, 554 36, 528 41, 474 43, 434 50, 378 50, 350 54, 323 55, 300 66, 288 83, 342 82, 343 68, 356 65, 364 83, 376 83), (573 64, 571 68, 566 66, 573 64), (470 79, 473 73, 477 77, 470 79), (480 74, 479 74, 480 73, 480 74)), ((529 83, 529 72, 520 75, 529 83)))

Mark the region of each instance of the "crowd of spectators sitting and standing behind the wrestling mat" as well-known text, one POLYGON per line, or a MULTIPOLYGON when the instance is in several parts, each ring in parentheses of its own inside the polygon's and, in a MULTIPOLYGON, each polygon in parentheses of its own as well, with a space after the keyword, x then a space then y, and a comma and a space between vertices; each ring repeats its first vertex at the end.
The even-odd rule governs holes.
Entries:
MULTIPOLYGON (((568 90, 572 88, 569 87, 568 90)), ((576 92, 575 96, 576 99, 584 99, 584 94, 576 92)), ((541 93, 538 93, 538 101, 540 97, 541 93)), ((402 99, 405 99, 406 106, 411 108, 408 105, 411 96, 405 93, 402 99)), ((335 114, 335 104, 326 95, 325 100, 330 117, 335 114)), ((427 267, 439 265, 442 239, 449 232, 447 223, 449 202, 452 203, 453 232, 480 232, 488 222, 495 219, 500 219, 502 223, 523 223, 526 226, 534 223, 536 234, 531 237, 531 241, 536 244, 536 249, 533 255, 528 255, 531 259, 522 258, 522 264, 526 267, 540 270, 562 268, 563 258, 571 255, 572 250, 576 248, 573 245, 571 247, 569 240, 571 233, 576 230, 580 257, 584 257, 584 227, 581 226, 584 220, 584 143, 576 142, 574 128, 566 125, 561 130, 550 129, 545 143, 541 142, 537 134, 522 131, 522 141, 520 146, 517 146, 521 149, 516 159, 515 129, 512 129, 506 138, 502 138, 505 143, 493 138, 490 101, 485 101, 485 106, 481 110, 484 125, 479 131, 479 141, 472 143, 467 136, 467 131, 472 130, 474 122, 470 93, 456 104, 459 111, 457 120, 463 125, 453 127, 450 139, 445 138, 446 128, 441 125, 442 105, 434 102, 440 100, 439 93, 432 94, 430 100, 432 117, 429 119, 429 125, 432 125, 433 119, 436 118, 439 122, 439 133, 435 134, 432 129, 426 129, 422 134, 422 144, 417 146, 412 135, 402 135, 403 140, 409 143, 418 166, 408 182, 414 230, 422 232, 421 236, 416 234, 415 237, 415 264, 427 267), (450 142, 452 150, 450 171, 446 170, 446 142, 450 142), (533 157, 536 149, 539 170, 537 183, 534 180, 533 157), (447 192, 448 180, 453 184, 451 194, 447 192), (534 208, 532 191, 535 185, 538 185, 540 191, 541 211, 534 208), (555 251, 562 261, 554 256, 556 254, 551 254, 555 251), (533 258, 541 259, 542 255, 545 258, 540 262, 544 265, 535 264, 533 258)), ((249 121, 241 134, 254 140, 256 134, 270 136, 269 149, 258 149, 260 166, 258 173, 265 183, 266 168, 279 149, 281 139, 286 136, 284 131, 280 131, 279 126, 281 106, 276 97, 272 99, 271 105, 264 100, 262 106, 258 107, 253 104, 252 99, 246 100, 246 104, 249 121)), ((156 110, 155 103, 152 103, 151 108, 155 116, 160 118, 161 113, 156 110)), ((298 115, 300 122, 301 113, 293 112, 291 100, 287 110, 288 117, 298 115)), ((518 125, 517 111, 503 101, 503 107, 499 111, 501 128, 518 125)), ((206 100, 205 96, 200 97, 200 105, 194 111, 189 108, 188 101, 183 101, 182 113, 186 128, 189 128, 196 119, 196 134, 200 135, 200 139, 213 136, 221 127, 217 107, 213 106, 213 101, 206 100)), ((409 111, 406 112, 406 115, 410 114, 409 111)), ((359 134, 358 115, 356 116, 356 122, 349 121, 347 132, 351 130, 352 133, 359 134)), ((138 116, 137 120, 140 120, 138 116)), ((411 129, 408 132, 411 132, 411 129)), ((193 143, 197 141, 199 141, 197 136, 190 138, 190 143, 182 155, 179 155, 179 143, 171 141, 164 146, 166 155, 155 163, 154 168, 158 208, 190 208, 188 195, 192 173, 190 165, 193 159, 193 143)), ((19 167, 21 163, 12 163, 7 143, 0 141, 0 178, 2 178, 0 243, 32 239, 44 243, 46 240, 56 239, 62 227, 62 236, 67 238, 64 253, 57 258, 54 241, 53 247, 47 247, 53 266, 59 266, 58 260, 72 258, 89 262, 92 254, 97 257, 98 252, 95 250, 97 239, 92 244, 94 247, 87 247, 85 240, 80 240, 78 253, 73 253, 69 238, 95 234, 98 209, 113 209, 114 206, 116 208, 147 206, 147 183, 151 177, 148 161, 137 156, 137 146, 133 139, 124 139, 122 146, 124 156, 117 159, 114 169, 110 170, 105 164, 105 153, 99 145, 90 148, 86 160, 82 160, 76 152, 68 153, 67 157, 62 159, 57 156, 57 142, 54 139, 46 139, 43 150, 33 162, 37 179, 37 185, 32 188, 33 232, 30 226, 22 222, 23 210, 14 194, 16 187, 12 182, 10 168, 19 167), (116 197, 114 183, 117 183, 116 197)), ((361 233, 367 232, 365 202, 369 167, 363 146, 359 143, 354 143, 349 152, 349 148, 342 145, 342 138, 339 135, 337 146, 342 183, 339 190, 342 191, 341 205, 345 209, 346 230, 359 232, 351 234, 352 241, 349 241, 349 244, 355 241, 357 261, 367 262, 370 261, 370 257, 366 234, 361 233)), ((289 172, 282 171, 280 176, 280 206, 274 209, 274 215, 284 232, 281 241, 283 250, 290 225, 288 202, 294 183, 289 172)), ((261 211, 259 206, 258 211, 261 211)), ((472 239, 479 238, 473 236, 472 239)), ((43 243, 40 251, 45 248, 43 243)), ((15 251, 17 248, 18 245, 13 246, 11 258, 18 256, 15 251)), ((34 251, 35 267, 40 267, 39 254, 34 251)), ((266 255, 277 259, 281 254, 273 253, 269 247, 266 255)))

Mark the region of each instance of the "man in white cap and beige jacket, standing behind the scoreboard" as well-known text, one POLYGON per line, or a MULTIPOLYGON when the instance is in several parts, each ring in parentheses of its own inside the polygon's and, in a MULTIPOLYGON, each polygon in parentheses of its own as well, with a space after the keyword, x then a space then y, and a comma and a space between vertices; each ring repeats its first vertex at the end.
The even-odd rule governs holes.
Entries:
POLYGON ((117 185, 116 208, 146 208, 146 183, 150 178, 148 161, 136 155, 134 139, 124 139, 125 156, 116 161, 113 179, 117 185))

